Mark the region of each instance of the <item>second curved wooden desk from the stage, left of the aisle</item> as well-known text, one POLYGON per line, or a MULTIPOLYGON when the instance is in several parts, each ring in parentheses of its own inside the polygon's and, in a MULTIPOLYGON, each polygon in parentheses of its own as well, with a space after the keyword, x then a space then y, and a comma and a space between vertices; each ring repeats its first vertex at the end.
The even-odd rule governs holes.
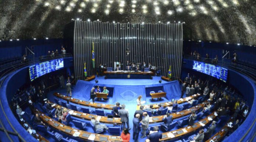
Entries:
MULTIPOLYGON (((58 106, 61 106, 61 105, 55 104, 55 106, 53 106, 53 108, 56 108, 56 109, 57 109, 58 106)), ((63 109, 65 108, 65 107, 63 107, 63 106, 61 106, 61 107, 62 107, 63 109)), ((67 109, 68 109, 68 108, 67 108, 67 109)), ((68 110, 70 110, 70 109, 68 109, 68 110)), ((92 119, 92 116, 94 116, 95 118, 100 117, 100 122, 103 122, 103 123, 118 124, 118 125, 119 125, 119 124, 120 124, 120 125, 122 124, 121 118, 117 118, 117 117, 114 117, 114 118, 113 118, 113 121, 110 121, 110 120, 107 119, 106 116, 97 116, 97 115, 92 115, 92 114, 83 113, 83 112, 74 111, 74 110, 70 110, 69 113, 70 113, 72 116, 78 117, 78 118, 80 118, 80 119, 91 120, 91 119, 92 119), (73 113, 71 113, 71 111, 73 111, 73 113)))

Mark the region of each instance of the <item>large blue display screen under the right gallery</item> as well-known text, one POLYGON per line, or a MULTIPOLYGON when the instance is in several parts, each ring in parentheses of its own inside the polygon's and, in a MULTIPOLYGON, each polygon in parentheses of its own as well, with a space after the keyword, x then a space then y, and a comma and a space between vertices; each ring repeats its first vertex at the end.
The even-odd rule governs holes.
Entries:
POLYGON ((215 66, 213 64, 207 64, 201 61, 194 61, 193 70, 202 72, 204 74, 213 76, 224 82, 227 82, 228 69, 220 66, 215 66))

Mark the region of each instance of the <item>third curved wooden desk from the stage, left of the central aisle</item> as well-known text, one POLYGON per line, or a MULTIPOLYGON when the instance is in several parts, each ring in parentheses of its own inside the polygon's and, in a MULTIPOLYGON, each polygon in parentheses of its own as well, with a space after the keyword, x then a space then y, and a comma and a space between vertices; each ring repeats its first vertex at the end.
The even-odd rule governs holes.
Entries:
MULTIPOLYGON (((39 112, 39 113, 41 113, 41 112, 39 112)), ((78 137, 85 141, 94 141, 94 142, 102 142, 102 141, 121 142, 122 141, 122 138, 119 136, 95 134, 95 133, 86 132, 86 131, 82 131, 82 130, 78 130, 78 129, 66 126, 62 123, 55 121, 54 119, 51 119, 50 117, 48 117, 42 113, 40 115, 40 118, 47 125, 55 128, 61 132, 64 132, 67 135, 70 135, 73 137, 78 137)))

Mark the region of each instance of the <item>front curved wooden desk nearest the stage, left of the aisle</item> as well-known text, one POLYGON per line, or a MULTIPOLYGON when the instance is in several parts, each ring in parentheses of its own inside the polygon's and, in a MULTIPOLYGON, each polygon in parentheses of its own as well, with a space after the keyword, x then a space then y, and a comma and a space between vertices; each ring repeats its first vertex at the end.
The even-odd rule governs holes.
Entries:
POLYGON ((68 96, 61 95, 60 93, 54 93, 54 96, 59 97, 59 98, 61 98, 63 100, 66 100, 66 101, 70 101, 70 102, 75 103, 75 104, 89 106, 89 107, 93 107, 93 108, 112 110, 112 108, 115 106, 115 105, 109 105, 109 104, 101 104, 101 103, 93 103, 93 102, 89 102, 89 101, 82 101, 82 100, 78 100, 78 99, 75 99, 75 98, 71 98, 71 97, 68 97, 68 96))

